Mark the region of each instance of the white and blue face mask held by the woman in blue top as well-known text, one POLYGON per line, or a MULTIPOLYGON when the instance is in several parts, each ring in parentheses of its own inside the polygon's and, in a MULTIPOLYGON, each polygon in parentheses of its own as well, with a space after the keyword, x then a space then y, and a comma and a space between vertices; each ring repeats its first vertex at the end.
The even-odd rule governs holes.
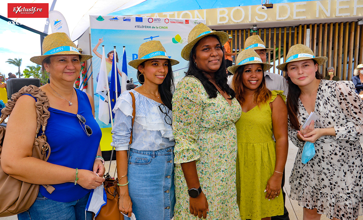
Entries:
POLYGON ((106 205, 107 195, 103 185, 91 190, 90 198, 88 199, 86 211, 94 212, 95 217, 98 215, 102 206, 106 205))

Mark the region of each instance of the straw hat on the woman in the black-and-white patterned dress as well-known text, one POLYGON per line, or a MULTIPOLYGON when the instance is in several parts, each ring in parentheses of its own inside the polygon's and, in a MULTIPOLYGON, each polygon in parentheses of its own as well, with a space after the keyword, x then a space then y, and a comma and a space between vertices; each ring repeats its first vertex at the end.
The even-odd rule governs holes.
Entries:
POLYGON ((276 68, 281 71, 286 71, 285 68, 287 63, 306 59, 314 59, 318 63, 318 66, 323 65, 328 60, 327 57, 315 57, 313 51, 309 47, 303 44, 297 44, 290 47, 286 56, 286 62, 278 65, 276 68))

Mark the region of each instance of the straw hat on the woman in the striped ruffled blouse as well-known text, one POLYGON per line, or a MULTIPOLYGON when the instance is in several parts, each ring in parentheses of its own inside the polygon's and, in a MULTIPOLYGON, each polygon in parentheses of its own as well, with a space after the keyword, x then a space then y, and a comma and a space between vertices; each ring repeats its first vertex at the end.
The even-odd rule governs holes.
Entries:
POLYGON ((147 61, 148 59, 168 59, 172 66, 179 63, 179 61, 168 57, 165 48, 160 41, 147 41, 140 45, 138 57, 139 59, 134 59, 129 62, 129 65, 134 67, 136 70, 142 62, 147 61))

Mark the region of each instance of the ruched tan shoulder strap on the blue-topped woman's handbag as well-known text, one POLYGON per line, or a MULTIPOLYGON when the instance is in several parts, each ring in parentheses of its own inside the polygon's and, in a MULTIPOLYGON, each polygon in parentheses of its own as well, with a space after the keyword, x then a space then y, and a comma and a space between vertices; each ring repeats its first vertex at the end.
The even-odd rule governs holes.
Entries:
POLYGON ((38 134, 40 129, 42 129, 44 134, 45 127, 48 123, 48 119, 50 116, 50 112, 48 111, 49 99, 44 91, 34 85, 24 86, 19 90, 19 92, 16 92, 11 96, 11 99, 8 100, 8 103, 5 103, 5 108, 1 110, 0 123, 2 123, 10 115, 10 113, 13 111, 16 101, 19 99, 20 96, 24 94, 32 95, 34 98, 37 99, 37 101, 35 102, 37 113, 36 135, 38 134))

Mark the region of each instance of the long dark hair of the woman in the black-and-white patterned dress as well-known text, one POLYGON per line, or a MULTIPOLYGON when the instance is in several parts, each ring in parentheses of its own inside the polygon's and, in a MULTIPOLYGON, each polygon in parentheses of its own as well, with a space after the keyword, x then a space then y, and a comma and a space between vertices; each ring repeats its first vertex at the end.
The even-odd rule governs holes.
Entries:
MULTIPOLYGON (((317 62, 312 59, 314 65, 317 62)), ((285 71, 287 70, 287 65, 285 66, 285 71)), ((286 71, 287 72, 287 71, 286 71)), ((315 78, 322 79, 322 75, 319 73, 319 69, 315 72, 315 78)), ((286 74, 285 79, 287 80, 287 84, 289 85, 289 92, 287 92, 286 105, 287 105, 287 114, 289 115, 290 124, 295 130, 300 130, 300 123, 298 120, 299 107, 298 101, 301 95, 300 88, 294 84, 289 75, 286 74)))

